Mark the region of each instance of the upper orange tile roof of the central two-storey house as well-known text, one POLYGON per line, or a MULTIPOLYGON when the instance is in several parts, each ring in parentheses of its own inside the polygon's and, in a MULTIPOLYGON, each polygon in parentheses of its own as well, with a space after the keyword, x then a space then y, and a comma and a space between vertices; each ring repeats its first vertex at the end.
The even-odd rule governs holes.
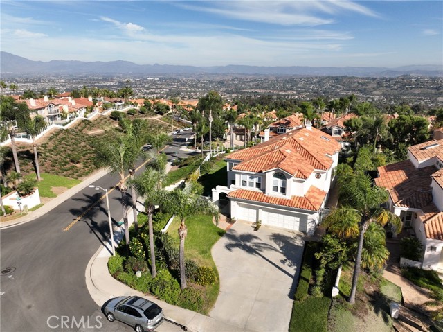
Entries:
POLYGON ((280 168, 306 179, 314 169, 327 170, 340 145, 316 128, 300 128, 278 135, 257 146, 231 153, 227 159, 241 161, 233 170, 263 173, 280 168))

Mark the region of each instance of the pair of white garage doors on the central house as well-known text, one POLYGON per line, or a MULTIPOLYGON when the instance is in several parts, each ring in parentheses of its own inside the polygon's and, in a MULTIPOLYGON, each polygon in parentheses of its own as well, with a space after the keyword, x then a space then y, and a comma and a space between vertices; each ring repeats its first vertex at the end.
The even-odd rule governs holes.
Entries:
MULTIPOLYGON (((256 222, 259 219, 258 209, 258 207, 239 203, 237 218, 256 222)), ((285 213, 285 211, 278 211, 277 213, 273 209, 262 209, 262 211, 260 211, 260 220, 262 220, 263 225, 283 227, 296 231, 300 230, 300 218, 291 215, 291 213, 285 213)))

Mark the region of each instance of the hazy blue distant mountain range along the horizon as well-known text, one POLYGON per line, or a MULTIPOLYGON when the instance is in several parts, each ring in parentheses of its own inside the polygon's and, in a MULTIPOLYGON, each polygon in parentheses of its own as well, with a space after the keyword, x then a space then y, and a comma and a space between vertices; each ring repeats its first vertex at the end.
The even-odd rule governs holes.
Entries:
POLYGON ((135 64, 123 60, 111 62, 82 62, 52 60, 33 61, 8 52, 0 52, 1 76, 69 76, 69 75, 266 75, 266 76, 359 76, 397 77, 402 75, 443 76, 443 65, 413 65, 396 68, 386 67, 260 67, 260 66, 174 66, 170 64, 135 64))

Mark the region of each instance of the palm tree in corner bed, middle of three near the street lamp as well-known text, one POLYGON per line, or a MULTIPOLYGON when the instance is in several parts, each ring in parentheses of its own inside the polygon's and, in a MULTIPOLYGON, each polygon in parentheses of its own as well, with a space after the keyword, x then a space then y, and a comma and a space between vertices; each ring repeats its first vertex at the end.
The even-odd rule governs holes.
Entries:
MULTIPOLYGON (((164 172, 163 172, 164 173, 164 172)), ((135 188, 138 195, 145 200, 145 209, 147 213, 148 231, 150 239, 151 269, 152 277, 156 277, 155 251, 154 251, 154 231, 152 227, 152 216, 154 215, 155 205, 159 204, 165 198, 165 191, 159 188, 161 186, 162 172, 153 167, 147 167, 142 175, 131 180, 132 187, 135 188)))

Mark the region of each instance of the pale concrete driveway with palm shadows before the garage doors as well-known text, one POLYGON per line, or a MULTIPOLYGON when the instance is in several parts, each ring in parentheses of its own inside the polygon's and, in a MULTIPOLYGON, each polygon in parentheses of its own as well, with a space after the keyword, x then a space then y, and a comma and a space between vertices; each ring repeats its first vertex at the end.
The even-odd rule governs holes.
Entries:
POLYGON ((214 245, 220 292, 210 317, 244 331, 288 331, 302 234, 237 221, 214 245))

